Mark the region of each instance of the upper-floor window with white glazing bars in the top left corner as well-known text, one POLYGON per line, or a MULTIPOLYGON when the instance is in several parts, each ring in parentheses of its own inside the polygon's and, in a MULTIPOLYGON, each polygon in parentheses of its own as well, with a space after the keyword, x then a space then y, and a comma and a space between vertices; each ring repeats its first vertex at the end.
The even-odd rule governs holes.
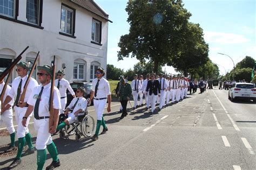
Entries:
POLYGON ((0 15, 15 18, 15 0, 0 0, 0 15))

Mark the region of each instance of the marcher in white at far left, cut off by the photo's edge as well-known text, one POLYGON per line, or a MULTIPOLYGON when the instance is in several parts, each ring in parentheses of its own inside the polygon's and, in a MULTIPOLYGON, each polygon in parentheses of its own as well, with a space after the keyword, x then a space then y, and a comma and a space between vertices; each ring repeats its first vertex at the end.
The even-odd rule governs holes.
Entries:
MULTIPOLYGON (((2 74, 2 73, 0 73, 2 74)), ((10 73, 11 74, 11 73, 10 73)), ((3 87, 4 87, 4 81, 0 81, 0 92, 1 95, 3 95, 3 100, 5 100, 6 96, 8 95, 9 91, 11 90, 11 87, 9 85, 7 85, 5 93, 2 94, 3 91, 3 87)), ((11 144, 8 147, 7 151, 11 151, 14 149, 15 146, 15 129, 14 129, 14 122, 12 121, 12 105, 14 105, 14 99, 12 98, 12 100, 6 104, 4 107, 4 112, 2 112, 1 116, 2 116, 2 120, 0 120, 0 124, 2 124, 2 122, 5 124, 6 129, 8 130, 10 137, 11 137, 11 144)))

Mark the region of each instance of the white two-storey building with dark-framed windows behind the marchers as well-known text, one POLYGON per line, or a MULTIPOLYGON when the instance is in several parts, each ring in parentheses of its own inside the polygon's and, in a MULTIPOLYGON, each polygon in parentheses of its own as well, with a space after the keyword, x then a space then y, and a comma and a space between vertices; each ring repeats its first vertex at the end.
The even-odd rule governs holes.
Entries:
POLYGON ((21 61, 40 51, 39 65, 50 65, 55 55, 69 82, 90 82, 106 69, 109 22, 93 0, 0 0, 0 69, 29 46, 21 61))

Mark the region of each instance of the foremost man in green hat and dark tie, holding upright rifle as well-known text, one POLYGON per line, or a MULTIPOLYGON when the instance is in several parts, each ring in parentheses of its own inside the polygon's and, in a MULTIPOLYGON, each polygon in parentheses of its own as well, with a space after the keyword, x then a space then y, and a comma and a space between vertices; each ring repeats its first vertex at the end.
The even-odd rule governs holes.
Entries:
MULTIPOLYGON (((49 128, 50 118, 50 94, 51 94, 51 77, 52 68, 49 65, 38 66, 38 80, 41 83, 35 87, 28 100, 28 110, 23 117, 22 125, 25 127, 28 123, 28 116, 34 112, 34 126, 37 132, 36 148, 37 148, 37 169, 43 169, 46 160, 46 148, 51 155, 52 163, 46 169, 54 169, 60 166, 58 152, 52 141, 51 133, 54 133, 57 124, 49 128)), ((57 87, 53 89, 53 117, 59 116, 60 93, 57 87)))

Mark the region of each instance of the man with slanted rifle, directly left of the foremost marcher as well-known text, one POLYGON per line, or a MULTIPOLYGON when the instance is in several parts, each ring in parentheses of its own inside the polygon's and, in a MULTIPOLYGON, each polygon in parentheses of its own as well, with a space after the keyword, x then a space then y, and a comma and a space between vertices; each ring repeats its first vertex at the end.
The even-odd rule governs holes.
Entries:
MULTIPOLYGON (((18 152, 17 152, 15 160, 12 161, 11 165, 9 166, 9 169, 14 168, 21 163, 22 150, 23 150, 25 143, 27 143, 29 146, 28 153, 35 152, 33 145, 32 145, 31 134, 29 133, 29 129, 28 129, 28 124, 29 124, 30 117, 32 116, 32 113, 30 115, 28 115, 26 127, 24 127, 22 125, 22 118, 24 117, 25 112, 28 109, 27 101, 29 99, 29 96, 32 93, 33 88, 38 86, 37 81, 35 79, 33 79, 32 77, 30 77, 28 87, 26 88, 24 102, 23 103, 19 102, 21 94, 23 93, 24 84, 25 84, 26 80, 28 79, 28 71, 29 71, 29 63, 19 62, 17 64, 16 72, 18 74, 18 77, 16 77, 14 79, 14 81, 12 81, 11 90, 10 90, 8 96, 6 96, 4 103, 3 103, 3 106, 4 106, 4 105, 8 104, 12 99, 15 100, 15 103, 14 103, 15 119, 16 119, 16 123, 18 125, 17 130, 16 130, 17 137, 18 137, 18 152)), ((6 108, 2 108, 2 112, 4 112, 5 110, 6 110, 6 108)))

